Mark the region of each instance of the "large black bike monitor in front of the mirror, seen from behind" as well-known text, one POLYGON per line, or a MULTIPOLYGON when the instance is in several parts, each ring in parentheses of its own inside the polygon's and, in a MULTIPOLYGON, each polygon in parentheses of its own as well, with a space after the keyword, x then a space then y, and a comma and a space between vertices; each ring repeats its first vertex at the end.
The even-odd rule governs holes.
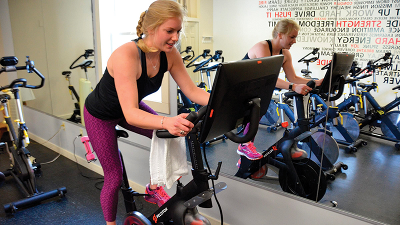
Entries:
POLYGON ((248 101, 261 98, 260 115, 266 113, 283 55, 222 62, 215 73, 199 141, 229 132, 248 121, 248 101))

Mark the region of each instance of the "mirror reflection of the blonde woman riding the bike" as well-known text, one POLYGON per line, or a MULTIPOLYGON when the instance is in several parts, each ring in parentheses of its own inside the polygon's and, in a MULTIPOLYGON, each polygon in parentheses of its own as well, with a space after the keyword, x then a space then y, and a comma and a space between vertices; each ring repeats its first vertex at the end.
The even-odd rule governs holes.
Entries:
MULTIPOLYGON (((250 48, 250 50, 248 50, 243 59, 283 54, 284 59, 282 68, 288 81, 278 78, 276 81, 276 87, 293 90, 299 94, 307 94, 307 92, 311 90, 311 88, 305 84, 309 81, 309 79, 305 79, 296 75, 289 52, 291 45, 296 42, 296 37, 299 30, 300 26, 292 19, 285 18, 280 20, 273 28, 272 39, 262 40, 256 43, 250 48)), ((321 82, 322 79, 315 80, 316 85, 320 85, 321 82)), ((246 133, 247 131, 248 125, 246 126, 244 132, 246 133)), ((237 147, 237 153, 246 156, 250 160, 255 160, 262 157, 262 155, 256 151, 253 142, 239 144, 237 147)), ((302 156, 302 153, 302 151, 294 151, 292 152, 292 157, 300 157, 302 156)))

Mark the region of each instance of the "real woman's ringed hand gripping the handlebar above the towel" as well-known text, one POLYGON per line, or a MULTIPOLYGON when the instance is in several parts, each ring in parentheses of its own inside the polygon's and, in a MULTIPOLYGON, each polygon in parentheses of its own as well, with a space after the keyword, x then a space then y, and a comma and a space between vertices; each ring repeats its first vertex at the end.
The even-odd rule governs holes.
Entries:
POLYGON ((163 120, 164 129, 175 136, 186 136, 194 127, 192 122, 185 119, 187 115, 188 113, 181 113, 173 117, 165 117, 163 120))

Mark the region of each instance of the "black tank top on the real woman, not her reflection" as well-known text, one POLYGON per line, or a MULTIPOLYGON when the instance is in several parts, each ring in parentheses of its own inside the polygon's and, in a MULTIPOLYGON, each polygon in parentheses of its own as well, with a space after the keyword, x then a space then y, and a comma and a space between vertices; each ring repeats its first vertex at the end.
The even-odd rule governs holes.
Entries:
MULTIPOLYGON (((133 41, 137 42, 137 39, 133 41)), ((141 74, 136 80, 138 101, 140 102, 145 96, 154 93, 161 86, 164 72, 168 69, 168 61, 164 51, 159 54, 160 67, 158 73, 149 78, 147 75, 145 53, 137 47, 141 62, 141 74)), ((123 99, 123 96, 120 96, 123 99)), ((101 77, 96 88, 87 96, 85 100, 87 111, 100 119, 116 119, 123 117, 122 108, 119 104, 118 95, 115 89, 114 78, 105 68, 104 75, 101 77)))

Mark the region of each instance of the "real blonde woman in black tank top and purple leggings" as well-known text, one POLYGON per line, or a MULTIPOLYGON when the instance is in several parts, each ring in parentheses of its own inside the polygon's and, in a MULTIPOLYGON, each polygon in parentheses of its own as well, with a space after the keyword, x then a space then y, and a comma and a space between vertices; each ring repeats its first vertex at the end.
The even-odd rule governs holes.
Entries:
MULTIPOLYGON (((115 125, 149 138, 153 129, 166 129, 176 136, 185 136, 191 130, 193 124, 184 119, 187 114, 160 116, 141 101, 160 87, 166 71, 190 100, 201 105, 208 102, 209 93, 191 81, 174 46, 182 29, 184 12, 180 4, 171 0, 151 3, 140 15, 136 27, 139 38, 112 52, 103 77, 86 98, 84 121, 104 171, 100 202, 107 224, 115 224, 122 178, 115 125)), ((156 184, 147 184, 146 193, 150 196, 145 199, 158 206, 169 199, 156 184)))

